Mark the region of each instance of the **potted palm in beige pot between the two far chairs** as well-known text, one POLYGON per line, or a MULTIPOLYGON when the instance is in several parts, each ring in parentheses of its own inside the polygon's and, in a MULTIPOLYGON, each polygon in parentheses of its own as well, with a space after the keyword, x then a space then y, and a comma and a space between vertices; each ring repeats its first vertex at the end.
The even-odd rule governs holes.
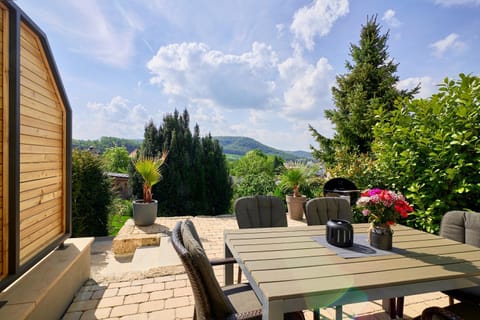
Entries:
POLYGON ((305 172, 301 168, 289 168, 280 176, 280 187, 284 192, 292 192, 287 194, 287 208, 290 218, 294 220, 302 220, 305 202, 307 197, 300 194, 300 186, 306 183, 305 172))

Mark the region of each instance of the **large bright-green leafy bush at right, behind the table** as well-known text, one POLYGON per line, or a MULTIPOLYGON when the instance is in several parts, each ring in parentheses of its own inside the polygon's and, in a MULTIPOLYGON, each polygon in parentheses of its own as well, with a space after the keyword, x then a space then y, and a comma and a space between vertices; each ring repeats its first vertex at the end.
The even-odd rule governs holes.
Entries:
POLYGON ((480 78, 445 81, 429 99, 403 100, 377 116, 374 152, 381 179, 405 194, 407 223, 436 233, 449 210, 480 210, 480 78))

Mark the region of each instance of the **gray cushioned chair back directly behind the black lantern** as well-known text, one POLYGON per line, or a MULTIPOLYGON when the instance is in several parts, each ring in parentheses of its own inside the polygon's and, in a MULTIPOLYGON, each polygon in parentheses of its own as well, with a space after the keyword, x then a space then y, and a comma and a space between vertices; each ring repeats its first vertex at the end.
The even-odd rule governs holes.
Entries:
POLYGON ((305 216, 309 226, 327 224, 330 219, 353 222, 350 203, 340 197, 314 198, 307 201, 305 208, 305 216))

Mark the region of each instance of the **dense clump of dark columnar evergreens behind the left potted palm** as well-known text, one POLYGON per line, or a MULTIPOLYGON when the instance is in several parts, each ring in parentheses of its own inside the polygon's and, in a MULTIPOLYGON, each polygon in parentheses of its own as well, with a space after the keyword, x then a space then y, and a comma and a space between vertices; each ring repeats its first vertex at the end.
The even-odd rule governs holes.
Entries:
MULTIPOLYGON (((158 129, 153 123, 145 128, 145 140, 140 152, 155 156, 168 150, 163 180, 153 187, 161 215, 215 215, 227 213, 232 186, 226 160, 218 141, 200 138, 200 129, 190 131, 190 116, 175 110, 163 118, 158 129)), ((139 182, 132 176, 132 190, 139 182)))

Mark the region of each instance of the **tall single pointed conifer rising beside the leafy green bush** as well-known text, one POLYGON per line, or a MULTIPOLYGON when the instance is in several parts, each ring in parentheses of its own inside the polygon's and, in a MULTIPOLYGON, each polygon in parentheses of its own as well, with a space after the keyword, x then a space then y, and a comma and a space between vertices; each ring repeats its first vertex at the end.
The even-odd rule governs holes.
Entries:
POLYGON ((332 139, 322 136, 309 126, 319 149, 311 146, 316 158, 327 164, 335 162, 335 150, 369 153, 373 142, 375 114, 388 113, 399 97, 412 97, 419 86, 412 90, 398 90, 395 75, 398 63, 388 55, 389 33, 381 34, 377 16, 367 17, 362 26, 358 45, 350 44, 352 62, 347 61, 347 73, 336 77, 337 86, 332 88, 335 108, 325 111, 325 116, 335 125, 332 139))

